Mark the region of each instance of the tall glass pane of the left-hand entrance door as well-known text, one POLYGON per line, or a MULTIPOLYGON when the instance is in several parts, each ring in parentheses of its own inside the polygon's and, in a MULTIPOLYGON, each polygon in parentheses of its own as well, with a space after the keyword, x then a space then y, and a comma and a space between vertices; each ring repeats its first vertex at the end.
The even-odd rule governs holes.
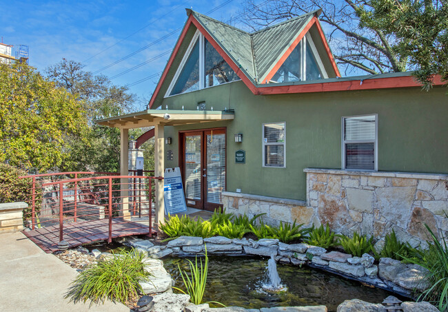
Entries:
POLYGON ((186 197, 201 200, 201 136, 185 137, 186 197))

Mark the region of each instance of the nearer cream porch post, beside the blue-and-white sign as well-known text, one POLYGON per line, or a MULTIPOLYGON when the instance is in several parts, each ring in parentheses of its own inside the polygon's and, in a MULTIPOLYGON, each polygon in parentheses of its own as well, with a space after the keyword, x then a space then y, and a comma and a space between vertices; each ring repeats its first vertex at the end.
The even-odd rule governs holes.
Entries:
MULTIPOLYGON (((165 171, 165 138, 163 134, 163 125, 154 127, 154 176, 163 176, 165 171)), ((165 218, 165 202, 163 199, 163 180, 155 182, 156 195, 156 220, 154 227, 159 229, 159 223, 165 218)))

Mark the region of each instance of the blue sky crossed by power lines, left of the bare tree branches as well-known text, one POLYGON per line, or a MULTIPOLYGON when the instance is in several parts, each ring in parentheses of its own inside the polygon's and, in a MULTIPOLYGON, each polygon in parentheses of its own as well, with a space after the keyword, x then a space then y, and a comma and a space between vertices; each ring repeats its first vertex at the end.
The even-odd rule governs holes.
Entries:
MULTIPOLYGON (((242 0, 189 1, 11 1, 0 0, 0 36, 3 43, 28 45, 30 65, 41 72, 48 65, 65 59, 79 61, 91 72, 118 61, 145 45, 183 27, 185 8, 192 8, 214 19, 228 21, 238 15, 242 0), (6 9, 6 10, 5 10, 6 9), (141 30, 143 28, 143 30, 141 30), (138 30, 141 30, 137 32, 138 30), (136 34, 133 34, 136 32, 136 34), (132 36, 130 36, 132 34, 132 36), (130 36, 128 39, 126 37, 130 36), (124 39, 124 40, 123 40, 124 39), (121 41, 122 40, 122 41, 121 41), (121 41, 121 42, 120 42, 121 41), (117 43, 116 45, 114 45, 117 43), (105 52, 105 48, 112 46, 105 52), (101 54, 99 54, 102 52, 101 54), (98 54, 98 55, 96 55, 98 54)), ((112 78, 125 70, 153 59, 174 47, 180 30, 116 65, 101 71, 112 78)), ((116 85, 130 85, 163 70, 169 54, 112 79, 116 85)), ((130 87, 145 109, 158 77, 130 87)))

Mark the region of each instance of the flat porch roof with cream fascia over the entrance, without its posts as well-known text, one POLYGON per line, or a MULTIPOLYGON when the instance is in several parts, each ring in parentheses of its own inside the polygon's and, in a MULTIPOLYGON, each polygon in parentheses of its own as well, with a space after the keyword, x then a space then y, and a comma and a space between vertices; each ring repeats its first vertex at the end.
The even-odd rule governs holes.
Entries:
POLYGON ((230 121, 235 118, 233 110, 144 110, 121 116, 99 119, 99 125, 121 129, 134 129, 154 125, 188 125, 210 121, 230 121))

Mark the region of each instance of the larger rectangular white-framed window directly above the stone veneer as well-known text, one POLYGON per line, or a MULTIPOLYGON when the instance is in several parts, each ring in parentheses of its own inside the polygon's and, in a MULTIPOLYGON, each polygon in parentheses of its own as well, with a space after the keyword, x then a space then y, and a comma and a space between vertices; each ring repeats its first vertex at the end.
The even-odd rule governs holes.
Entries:
POLYGON ((342 169, 378 171, 378 115, 342 118, 342 169))

